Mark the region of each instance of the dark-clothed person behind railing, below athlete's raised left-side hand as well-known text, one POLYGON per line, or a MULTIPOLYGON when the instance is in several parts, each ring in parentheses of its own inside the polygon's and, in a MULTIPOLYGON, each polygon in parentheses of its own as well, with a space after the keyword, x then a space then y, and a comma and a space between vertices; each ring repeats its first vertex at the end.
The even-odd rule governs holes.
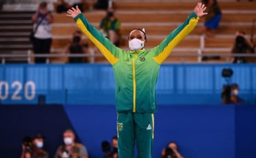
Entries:
MULTIPOLYGON (((83 53, 89 53, 88 44, 83 43, 82 40, 82 33, 79 30, 76 30, 73 33, 73 37, 71 39, 71 42, 66 46, 65 53, 70 54, 83 54, 83 53)), ((69 57, 69 63, 84 63, 88 62, 88 58, 85 57, 69 57)))

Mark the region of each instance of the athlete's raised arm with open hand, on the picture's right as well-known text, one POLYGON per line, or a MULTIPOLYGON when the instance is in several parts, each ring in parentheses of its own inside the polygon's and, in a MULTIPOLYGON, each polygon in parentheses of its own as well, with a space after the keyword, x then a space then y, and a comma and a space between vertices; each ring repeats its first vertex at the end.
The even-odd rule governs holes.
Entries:
POLYGON ((183 22, 179 27, 177 27, 169 36, 163 40, 158 46, 155 48, 155 57, 154 60, 158 64, 162 64, 163 61, 169 56, 172 49, 177 46, 197 25, 199 17, 206 15, 204 13, 206 7, 202 3, 197 3, 194 8, 194 12, 192 12, 185 22, 183 22))

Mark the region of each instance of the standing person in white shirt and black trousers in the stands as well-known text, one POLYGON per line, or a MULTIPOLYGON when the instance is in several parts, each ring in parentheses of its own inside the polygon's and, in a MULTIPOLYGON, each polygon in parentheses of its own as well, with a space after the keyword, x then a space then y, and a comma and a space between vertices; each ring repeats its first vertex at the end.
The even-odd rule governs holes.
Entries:
MULTIPOLYGON (((33 49, 35 54, 50 53, 52 45, 52 14, 48 11, 47 3, 41 2, 32 17, 34 23, 33 49)), ((35 63, 45 63, 46 58, 35 58, 35 63)))

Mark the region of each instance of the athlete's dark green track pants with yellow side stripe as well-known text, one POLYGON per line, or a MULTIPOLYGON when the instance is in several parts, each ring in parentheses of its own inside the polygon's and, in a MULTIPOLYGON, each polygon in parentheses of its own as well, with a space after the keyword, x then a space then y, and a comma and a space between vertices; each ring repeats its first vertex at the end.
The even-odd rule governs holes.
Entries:
POLYGON ((119 112, 117 114, 119 158, 133 158, 136 141, 138 158, 151 158, 154 139, 154 114, 119 112))

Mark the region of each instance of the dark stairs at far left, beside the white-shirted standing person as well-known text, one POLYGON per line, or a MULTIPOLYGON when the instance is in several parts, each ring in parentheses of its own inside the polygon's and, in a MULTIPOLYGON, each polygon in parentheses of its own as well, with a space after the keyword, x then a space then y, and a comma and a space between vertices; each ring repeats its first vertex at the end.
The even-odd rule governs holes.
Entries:
MULTIPOLYGON (((32 30, 31 11, 0 12, 0 54, 27 54, 32 49, 29 34, 32 30)), ((5 59, 6 63, 26 63, 27 58, 5 59)))

